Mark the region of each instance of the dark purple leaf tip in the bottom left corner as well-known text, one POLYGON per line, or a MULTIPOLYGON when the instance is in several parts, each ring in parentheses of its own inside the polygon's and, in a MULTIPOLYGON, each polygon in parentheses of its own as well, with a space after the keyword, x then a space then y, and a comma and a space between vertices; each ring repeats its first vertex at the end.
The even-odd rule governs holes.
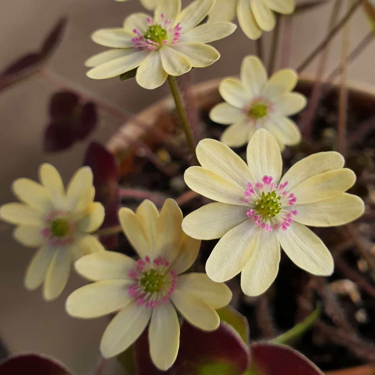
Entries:
POLYGON ((70 375, 70 372, 40 354, 21 354, 0 363, 0 375, 70 375))

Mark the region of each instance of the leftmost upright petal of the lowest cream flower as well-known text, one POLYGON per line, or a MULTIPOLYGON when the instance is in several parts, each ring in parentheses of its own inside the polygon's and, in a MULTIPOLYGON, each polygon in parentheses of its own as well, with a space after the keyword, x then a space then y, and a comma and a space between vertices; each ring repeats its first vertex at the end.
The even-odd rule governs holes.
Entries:
POLYGON ((153 249, 138 216, 130 208, 122 207, 118 212, 118 218, 130 244, 139 257, 144 259, 153 254, 153 249))

